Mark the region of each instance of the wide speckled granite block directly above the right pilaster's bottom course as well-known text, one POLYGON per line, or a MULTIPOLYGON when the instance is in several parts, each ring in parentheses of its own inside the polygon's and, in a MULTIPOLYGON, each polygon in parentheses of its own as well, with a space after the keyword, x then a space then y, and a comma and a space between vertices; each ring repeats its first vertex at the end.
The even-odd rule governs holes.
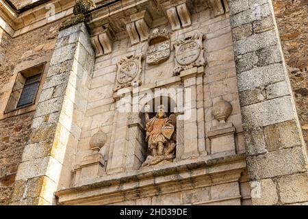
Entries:
POLYGON ((300 146, 247 157, 249 176, 253 180, 305 172, 305 165, 305 155, 300 146))

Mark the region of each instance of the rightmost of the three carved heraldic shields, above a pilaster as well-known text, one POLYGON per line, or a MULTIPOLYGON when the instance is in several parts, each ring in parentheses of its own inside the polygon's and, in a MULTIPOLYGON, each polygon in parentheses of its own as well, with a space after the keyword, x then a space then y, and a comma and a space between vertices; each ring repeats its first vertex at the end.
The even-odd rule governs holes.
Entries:
POLYGON ((205 66, 203 34, 195 34, 188 38, 183 38, 175 42, 175 59, 176 67, 173 71, 174 75, 179 75, 182 70, 205 66))

